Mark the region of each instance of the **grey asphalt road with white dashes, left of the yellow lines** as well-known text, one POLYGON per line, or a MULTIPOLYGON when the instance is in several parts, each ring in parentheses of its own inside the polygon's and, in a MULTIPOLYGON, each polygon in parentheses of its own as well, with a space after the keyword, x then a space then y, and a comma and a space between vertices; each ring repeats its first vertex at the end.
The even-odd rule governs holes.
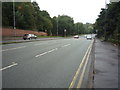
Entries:
POLYGON ((3 45, 3 88, 69 88, 92 41, 69 38, 3 45))

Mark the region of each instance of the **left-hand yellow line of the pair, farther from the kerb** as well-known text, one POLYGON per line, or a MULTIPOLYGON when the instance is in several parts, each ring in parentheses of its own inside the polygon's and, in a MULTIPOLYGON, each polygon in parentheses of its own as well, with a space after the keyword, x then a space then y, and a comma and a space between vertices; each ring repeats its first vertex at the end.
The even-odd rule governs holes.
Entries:
MULTIPOLYGON (((92 43, 93 43, 93 42, 92 42, 92 43)), ((79 67, 78 67, 78 69, 77 69, 77 71, 76 71, 76 74, 75 74, 75 76, 73 77, 73 80, 72 80, 69 88, 73 88, 73 87, 74 87, 75 82, 76 82, 76 79, 77 79, 77 77, 78 77, 78 74, 79 74, 79 72, 80 72, 80 70, 81 70, 81 68, 82 68, 82 66, 83 66, 83 63, 85 62, 85 58, 86 58, 86 56, 87 56, 87 54, 88 54, 89 49, 90 49, 91 46, 92 46, 92 43, 89 45, 89 47, 88 47, 88 49, 87 49, 87 51, 86 51, 86 53, 85 53, 85 55, 84 55, 84 57, 83 57, 80 65, 79 65, 79 67)))

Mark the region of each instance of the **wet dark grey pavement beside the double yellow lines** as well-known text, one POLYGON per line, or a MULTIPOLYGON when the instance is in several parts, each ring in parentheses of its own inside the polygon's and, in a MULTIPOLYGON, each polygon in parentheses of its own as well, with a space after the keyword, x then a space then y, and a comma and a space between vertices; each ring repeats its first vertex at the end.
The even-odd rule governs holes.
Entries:
MULTIPOLYGON (((118 46, 96 39, 94 88, 118 88, 118 46)), ((119 76, 118 76, 119 74, 119 76)))

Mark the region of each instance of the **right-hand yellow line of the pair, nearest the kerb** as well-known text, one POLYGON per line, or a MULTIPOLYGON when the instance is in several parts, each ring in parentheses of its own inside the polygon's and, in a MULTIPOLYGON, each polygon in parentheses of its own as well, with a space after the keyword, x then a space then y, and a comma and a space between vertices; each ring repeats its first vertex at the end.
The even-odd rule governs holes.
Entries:
POLYGON ((80 75, 80 79, 79 79, 79 82, 78 82, 78 84, 77 84, 77 88, 80 88, 80 87, 81 87, 81 84, 82 84, 82 81, 83 81, 83 77, 84 77, 84 73, 85 73, 85 70, 86 70, 86 67, 87 67, 87 64, 88 64, 88 61, 89 61, 90 52, 91 52, 91 48, 90 48, 90 50, 89 50, 89 53, 88 53, 88 56, 87 56, 85 65, 84 65, 84 67, 83 67, 83 72, 82 72, 82 74, 80 75))

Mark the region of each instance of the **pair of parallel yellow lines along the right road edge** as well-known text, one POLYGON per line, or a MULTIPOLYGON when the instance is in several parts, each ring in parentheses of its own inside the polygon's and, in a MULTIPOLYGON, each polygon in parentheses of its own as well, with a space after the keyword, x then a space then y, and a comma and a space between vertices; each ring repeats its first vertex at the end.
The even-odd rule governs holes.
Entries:
POLYGON ((88 47, 88 49, 87 49, 87 51, 86 51, 86 53, 85 53, 85 55, 84 55, 80 65, 78 67, 78 70, 77 70, 75 76, 73 77, 73 80, 72 80, 72 82, 71 82, 71 84, 69 86, 69 89, 71 89, 71 88, 81 88, 81 84, 82 84, 82 81, 83 81, 83 77, 84 77, 84 73, 85 73, 85 70, 86 70, 86 67, 87 67, 87 63, 89 61, 89 56, 90 56, 90 52, 91 52, 91 49, 92 49, 93 42, 94 42, 94 40, 89 45, 89 47, 88 47), (83 67, 83 65, 84 65, 84 67, 83 67), (79 81, 77 83, 77 87, 75 87, 75 83, 77 81, 77 77, 78 77, 82 67, 83 67, 82 73, 81 73, 79 81))

